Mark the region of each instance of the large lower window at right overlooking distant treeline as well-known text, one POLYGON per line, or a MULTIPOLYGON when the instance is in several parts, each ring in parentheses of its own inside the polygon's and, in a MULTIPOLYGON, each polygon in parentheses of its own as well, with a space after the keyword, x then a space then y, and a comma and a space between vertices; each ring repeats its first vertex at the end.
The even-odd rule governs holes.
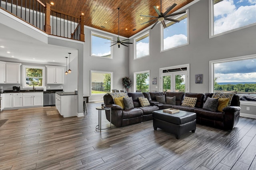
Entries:
POLYGON ((256 55, 210 61, 210 91, 232 91, 238 95, 256 96, 255 65, 256 55))

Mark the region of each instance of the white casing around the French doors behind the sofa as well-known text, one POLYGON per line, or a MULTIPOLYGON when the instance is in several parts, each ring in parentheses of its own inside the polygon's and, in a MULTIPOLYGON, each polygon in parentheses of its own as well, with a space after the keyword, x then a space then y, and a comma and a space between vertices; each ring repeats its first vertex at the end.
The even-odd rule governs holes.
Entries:
MULTIPOLYGON (((182 67, 187 67, 187 77, 185 79, 185 83, 186 83, 186 93, 190 92, 190 78, 189 78, 189 75, 190 75, 190 64, 183 64, 183 65, 174 65, 174 66, 170 66, 170 67, 162 67, 162 68, 159 68, 159 77, 162 77, 162 75, 164 75, 164 73, 162 73, 163 70, 166 70, 166 69, 178 69, 178 68, 182 68, 182 67)), ((159 81, 159 91, 163 91, 162 89, 162 79, 160 78, 160 81, 159 81)))

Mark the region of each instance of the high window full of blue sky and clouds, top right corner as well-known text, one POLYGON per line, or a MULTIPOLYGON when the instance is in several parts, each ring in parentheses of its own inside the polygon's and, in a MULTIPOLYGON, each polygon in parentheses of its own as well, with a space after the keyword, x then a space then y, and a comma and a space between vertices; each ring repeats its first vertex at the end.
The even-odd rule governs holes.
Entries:
POLYGON ((255 0, 210 0, 211 35, 239 30, 256 23, 255 0))

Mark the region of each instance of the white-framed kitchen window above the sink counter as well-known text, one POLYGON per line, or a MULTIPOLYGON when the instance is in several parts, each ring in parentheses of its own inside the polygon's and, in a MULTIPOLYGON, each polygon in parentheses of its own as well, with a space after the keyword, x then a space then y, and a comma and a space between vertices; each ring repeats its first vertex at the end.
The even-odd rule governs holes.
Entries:
POLYGON ((44 67, 23 65, 23 87, 32 88, 44 86, 44 67))

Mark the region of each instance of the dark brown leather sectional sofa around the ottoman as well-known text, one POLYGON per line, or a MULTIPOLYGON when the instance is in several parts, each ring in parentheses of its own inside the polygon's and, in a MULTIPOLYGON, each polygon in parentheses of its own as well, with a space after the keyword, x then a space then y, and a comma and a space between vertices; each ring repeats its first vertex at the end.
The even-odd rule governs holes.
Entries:
MULTIPOLYGON (((122 127, 133 123, 147 121, 152 119, 152 112, 158 109, 174 108, 183 111, 196 113, 196 123, 216 127, 226 130, 232 130, 239 121, 240 101, 239 96, 234 95, 230 107, 225 107, 223 112, 209 111, 202 109, 207 97, 212 97, 213 93, 183 93, 183 92, 136 92, 128 93, 132 97, 134 109, 123 110, 114 104, 109 94, 104 95, 104 103, 108 107, 112 107, 112 123, 116 127, 122 127), (155 96, 165 95, 165 97, 176 97, 175 105, 168 105, 156 101, 155 96), (138 97, 146 97, 150 102, 150 106, 141 107, 138 97), (195 107, 182 106, 184 97, 196 97, 195 107)), ((106 117, 110 121, 110 111, 106 111, 106 117)))

